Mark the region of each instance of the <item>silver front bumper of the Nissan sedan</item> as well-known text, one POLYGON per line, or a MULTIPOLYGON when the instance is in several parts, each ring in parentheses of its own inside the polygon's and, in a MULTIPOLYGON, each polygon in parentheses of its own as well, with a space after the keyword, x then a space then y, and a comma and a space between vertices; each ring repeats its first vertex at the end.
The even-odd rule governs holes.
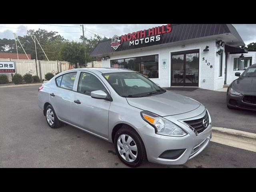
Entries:
MULTIPOLYGON (((155 133, 154 128, 146 125, 140 130, 144 142, 149 162, 158 164, 184 164, 187 160, 195 157, 206 148, 212 138, 212 125, 198 136, 194 132, 186 129, 188 134, 183 137, 163 136, 155 133), (162 154, 175 154, 178 150, 180 153, 175 158, 161 158, 162 154)), ((166 156, 166 155, 165 155, 166 156)))

